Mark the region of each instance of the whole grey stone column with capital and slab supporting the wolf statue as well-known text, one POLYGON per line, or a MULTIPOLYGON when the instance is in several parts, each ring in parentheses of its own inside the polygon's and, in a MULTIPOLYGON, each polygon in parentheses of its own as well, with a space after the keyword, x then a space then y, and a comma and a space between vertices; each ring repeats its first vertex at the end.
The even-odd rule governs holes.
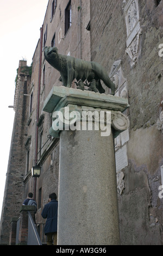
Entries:
POLYGON ((47 97, 49 132, 60 137, 58 245, 120 244, 114 137, 129 127, 121 113, 127 107, 127 99, 65 87, 54 87, 47 97))

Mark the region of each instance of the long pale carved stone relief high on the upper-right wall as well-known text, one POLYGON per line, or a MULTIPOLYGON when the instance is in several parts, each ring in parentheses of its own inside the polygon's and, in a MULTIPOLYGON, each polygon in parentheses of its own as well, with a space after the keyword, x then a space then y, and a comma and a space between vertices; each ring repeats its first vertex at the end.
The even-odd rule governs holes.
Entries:
POLYGON ((131 66, 135 65, 140 54, 140 28, 139 5, 137 0, 124 0, 122 8, 126 19, 127 49, 126 53, 131 59, 131 66))

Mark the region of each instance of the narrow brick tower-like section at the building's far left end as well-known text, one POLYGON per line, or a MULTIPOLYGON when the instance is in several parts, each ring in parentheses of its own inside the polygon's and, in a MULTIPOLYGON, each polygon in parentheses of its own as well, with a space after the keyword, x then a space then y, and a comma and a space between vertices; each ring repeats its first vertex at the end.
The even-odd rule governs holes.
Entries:
POLYGON ((26 152, 22 150, 27 139, 27 107, 29 77, 20 71, 21 66, 27 65, 20 61, 17 81, 17 103, 12 131, 11 148, 7 180, 5 184, 3 209, 1 216, 1 243, 9 241, 10 220, 19 217, 19 209, 23 200, 23 175, 26 168, 26 152))

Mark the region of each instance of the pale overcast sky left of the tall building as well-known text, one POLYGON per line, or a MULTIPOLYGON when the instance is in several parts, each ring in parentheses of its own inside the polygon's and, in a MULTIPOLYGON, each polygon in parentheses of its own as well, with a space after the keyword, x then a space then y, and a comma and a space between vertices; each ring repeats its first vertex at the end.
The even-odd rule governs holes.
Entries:
POLYGON ((19 60, 26 59, 27 65, 32 63, 47 4, 48 0, 0 0, 0 217, 15 115, 13 108, 8 106, 14 105, 15 77, 19 60))

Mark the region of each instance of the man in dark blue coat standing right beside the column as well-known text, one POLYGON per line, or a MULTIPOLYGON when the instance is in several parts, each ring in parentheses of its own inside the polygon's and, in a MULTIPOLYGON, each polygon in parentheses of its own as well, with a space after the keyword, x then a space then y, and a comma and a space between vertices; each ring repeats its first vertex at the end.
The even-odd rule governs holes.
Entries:
POLYGON ((58 201, 56 199, 55 193, 49 194, 49 203, 41 212, 42 217, 47 218, 44 230, 47 236, 47 245, 57 245, 58 201))

